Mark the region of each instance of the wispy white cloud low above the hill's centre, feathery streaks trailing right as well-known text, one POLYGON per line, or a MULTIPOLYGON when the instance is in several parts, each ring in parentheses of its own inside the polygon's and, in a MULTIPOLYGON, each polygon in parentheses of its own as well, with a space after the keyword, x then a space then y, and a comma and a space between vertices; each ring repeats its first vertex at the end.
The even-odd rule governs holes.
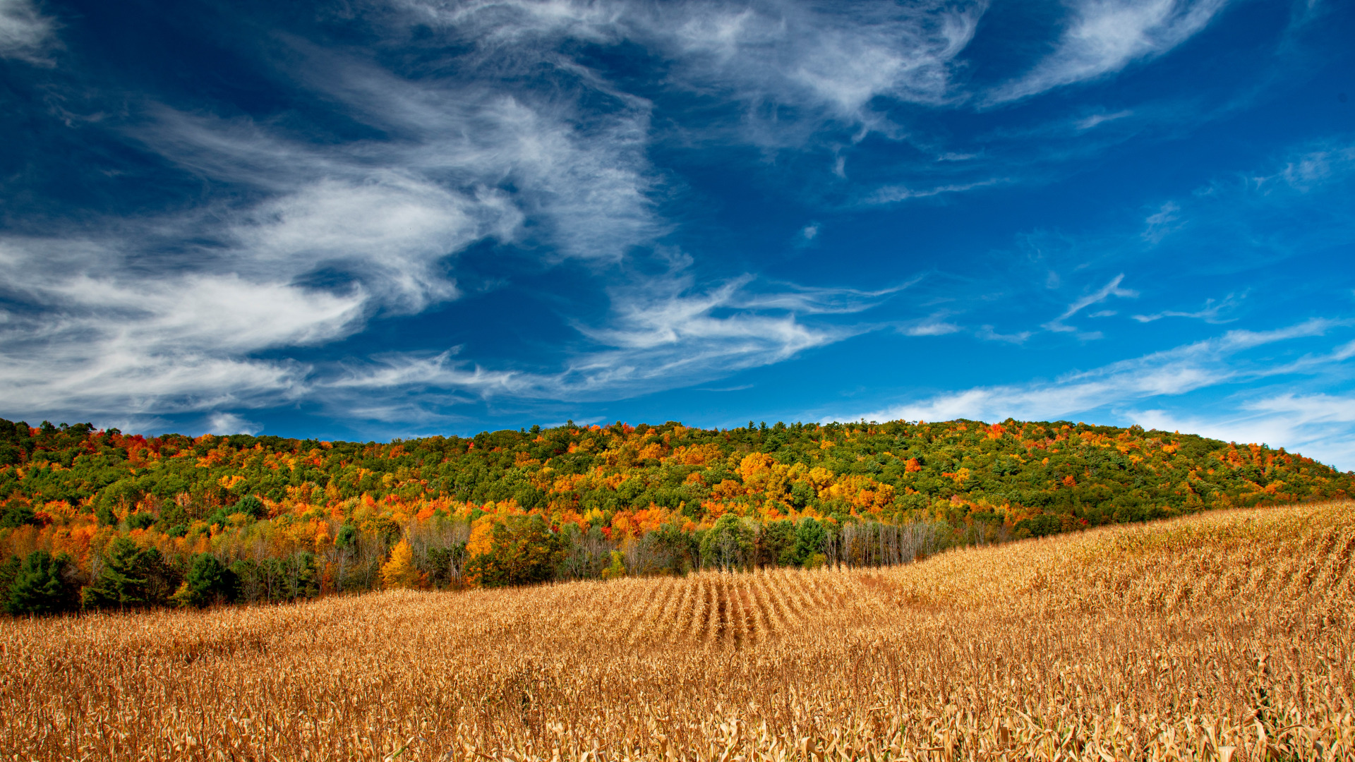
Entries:
MULTIPOLYGON (((752 290, 752 285, 753 279, 744 277, 699 289, 690 274, 676 271, 668 278, 617 289, 606 325, 576 325, 595 346, 573 354, 553 373, 486 370, 473 362, 458 362, 455 351, 435 357, 397 354, 348 367, 333 380, 318 380, 316 393, 344 395, 356 404, 371 389, 382 389, 388 396, 393 389, 413 389, 430 400, 436 399, 436 390, 478 399, 626 397, 772 365, 860 334, 867 328, 809 324, 804 319, 864 310, 890 293, 766 292, 752 290)), ((385 415, 398 419, 409 411, 396 405, 385 415)))

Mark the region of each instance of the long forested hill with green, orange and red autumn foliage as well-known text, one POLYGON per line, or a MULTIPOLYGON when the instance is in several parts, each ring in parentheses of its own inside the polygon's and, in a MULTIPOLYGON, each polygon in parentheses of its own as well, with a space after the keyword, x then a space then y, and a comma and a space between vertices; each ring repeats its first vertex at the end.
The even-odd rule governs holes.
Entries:
POLYGON ((180 572, 205 553, 222 564, 301 553, 313 567, 306 590, 344 588, 341 574, 324 571, 343 553, 389 564, 409 548, 401 563, 423 584, 625 574, 637 564, 851 563, 864 550, 843 542, 878 527, 925 525, 940 545, 1000 541, 1346 498, 1352 480, 1283 449, 1066 422, 566 424, 358 443, 0 420, 0 559, 65 553, 76 569, 65 574, 93 584, 92 559, 118 538, 154 548, 180 572), (537 534, 512 534, 528 523, 537 534), (440 540, 430 527, 442 527, 440 540), (533 561, 535 576, 462 576, 478 568, 477 556, 492 560, 512 542, 514 552, 549 545, 533 561), (656 542, 661 563, 637 550, 656 542))

